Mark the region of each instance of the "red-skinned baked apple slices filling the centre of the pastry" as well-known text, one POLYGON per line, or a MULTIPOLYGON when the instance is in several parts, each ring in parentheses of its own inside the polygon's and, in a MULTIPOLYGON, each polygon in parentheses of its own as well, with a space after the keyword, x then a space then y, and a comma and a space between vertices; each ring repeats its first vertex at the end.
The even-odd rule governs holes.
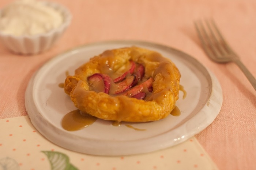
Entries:
POLYGON ((95 73, 89 76, 87 80, 90 90, 105 92, 112 96, 126 95, 136 99, 144 99, 148 92, 153 91, 152 84, 154 80, 149 78, 142 82, 144 66, 132 60, 129 63, 127 64, 129 68, 124 67, 127 71, 114 79, 102 73, 95 73))

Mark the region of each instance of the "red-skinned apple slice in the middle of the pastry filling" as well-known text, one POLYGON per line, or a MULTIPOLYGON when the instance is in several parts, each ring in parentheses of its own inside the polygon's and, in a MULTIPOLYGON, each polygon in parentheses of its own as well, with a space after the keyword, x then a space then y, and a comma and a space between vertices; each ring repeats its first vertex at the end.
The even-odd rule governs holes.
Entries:
POLYGON ((130 75, 127 78, 125 78, 123 81, 114 84, 114 94, 119 94, 121 92, 124 92, 131 88, 134 85, 136 76, 135 75, 130 75))

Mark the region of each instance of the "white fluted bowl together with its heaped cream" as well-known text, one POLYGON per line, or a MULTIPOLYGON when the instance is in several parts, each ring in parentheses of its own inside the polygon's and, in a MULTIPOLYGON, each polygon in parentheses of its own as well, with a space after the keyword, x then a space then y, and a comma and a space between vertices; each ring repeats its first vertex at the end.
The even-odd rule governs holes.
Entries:
POLYGON ((37 54, 49 50, 70 21, 71 14, 60 4, 13 1, 0 12, 0 38, 15 53, 37 54))

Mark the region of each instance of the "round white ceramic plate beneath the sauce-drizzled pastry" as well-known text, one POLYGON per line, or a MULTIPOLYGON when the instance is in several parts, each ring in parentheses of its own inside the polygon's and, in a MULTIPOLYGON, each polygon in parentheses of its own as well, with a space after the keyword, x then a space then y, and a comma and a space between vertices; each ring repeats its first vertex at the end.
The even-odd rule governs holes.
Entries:
POLYGON ((88 44, 60 54, 42 66, 31 78, 25 95, 26 110, 35 128, 44 137, 66 149, 93 155, 131 155, 164 149, 187 140, 205 129, 218 115, 222 106, 222 90, 211 72, 191 56, 170 47, 142 41, 107 41, 88 44), (75 110, 63 88, 65 72, 74 70, 91 57, 105 50, 138 46, 170 58, 181 72, 180 91, 176 106, 180 116, 148 123, 130 123, 137 131, 111 121, 98 119, 78 131, 61 126, 65 114, 75 110))

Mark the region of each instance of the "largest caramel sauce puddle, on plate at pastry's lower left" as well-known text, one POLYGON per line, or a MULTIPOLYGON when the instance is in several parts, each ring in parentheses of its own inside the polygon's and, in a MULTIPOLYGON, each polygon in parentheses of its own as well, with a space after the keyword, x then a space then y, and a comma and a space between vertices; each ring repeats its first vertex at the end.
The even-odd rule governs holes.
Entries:
POLYGON ((93 124, 97 119, 89 114, 82 114, 77 109, 66 114, 61 121, 61 125, 65 130, 76 131, 93 124))

